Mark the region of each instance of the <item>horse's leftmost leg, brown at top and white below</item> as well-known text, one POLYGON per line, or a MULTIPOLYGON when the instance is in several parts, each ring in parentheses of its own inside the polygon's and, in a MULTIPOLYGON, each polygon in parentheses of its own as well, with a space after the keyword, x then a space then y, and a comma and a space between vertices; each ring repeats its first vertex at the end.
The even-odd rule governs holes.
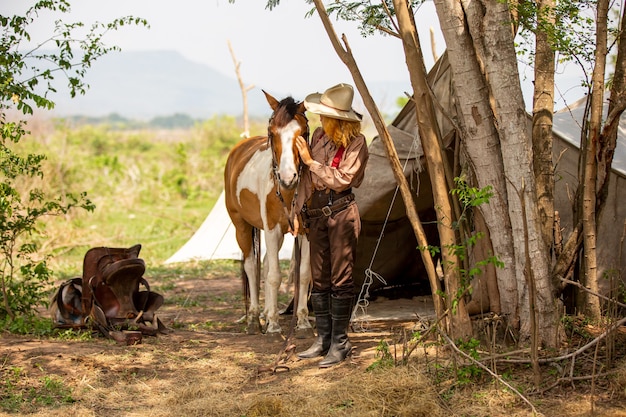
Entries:
MULTIPOLYGON (((239 247, 243 251, 243 270, 248 280, 249 301, 247 312, 247 332, 248 334, 261 333, 261 322, 259 315, 261 309, 259 307, 259 274, 257 271, 257 260, 254 253, 253 228, 249 225, 244 227, 236 227, 236 237, 239 247)), ((260 233, 257 230, 257 233, 260 233)))

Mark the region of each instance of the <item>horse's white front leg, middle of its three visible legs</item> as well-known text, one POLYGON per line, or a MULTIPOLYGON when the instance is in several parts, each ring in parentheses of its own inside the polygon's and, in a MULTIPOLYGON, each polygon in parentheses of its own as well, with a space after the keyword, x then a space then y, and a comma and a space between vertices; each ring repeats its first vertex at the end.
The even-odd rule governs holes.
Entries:
POLYGON ((278 324, 278 290, 280 288, 280 264, 278 251, 283 243, 283 233, 280 226, 265 232, 265 247, 267 255, 267 277, 265 279, 265 321, 266 334, 280 333, 278 324))

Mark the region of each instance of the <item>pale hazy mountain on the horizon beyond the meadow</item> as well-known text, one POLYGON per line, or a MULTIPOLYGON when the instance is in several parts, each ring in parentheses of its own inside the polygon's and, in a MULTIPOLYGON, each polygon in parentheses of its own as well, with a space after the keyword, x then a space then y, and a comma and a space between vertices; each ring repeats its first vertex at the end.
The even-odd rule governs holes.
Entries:
MULTIPOLYGON (((242 113, 241 90, 234 77, 174 51, 114 52, 96 61, 86 79, 90 88, 84 96, 71 99, 59 89, 60 93, 53 96, 55 115, 102 117, 117 113, 148 120, 172 114, 208 118, 242 113)), ((408 87, 391 82, 370 88, 381 105, 390 107, 408 87), (393 91, 391 97, 388 91, 393 91)), ((248 92, 248 111, 252 116, 270 113, 259 89, 248 92)))

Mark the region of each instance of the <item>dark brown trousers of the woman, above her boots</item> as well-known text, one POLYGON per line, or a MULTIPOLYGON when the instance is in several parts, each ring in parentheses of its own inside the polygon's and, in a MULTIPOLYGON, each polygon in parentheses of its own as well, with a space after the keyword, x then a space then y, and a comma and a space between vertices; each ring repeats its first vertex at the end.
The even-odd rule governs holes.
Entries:
POLYGON ((313 292, 330 292, 335 297, 354 295, 352 268, 360 232, 356 203, 330 216, 310 220, 313 292))

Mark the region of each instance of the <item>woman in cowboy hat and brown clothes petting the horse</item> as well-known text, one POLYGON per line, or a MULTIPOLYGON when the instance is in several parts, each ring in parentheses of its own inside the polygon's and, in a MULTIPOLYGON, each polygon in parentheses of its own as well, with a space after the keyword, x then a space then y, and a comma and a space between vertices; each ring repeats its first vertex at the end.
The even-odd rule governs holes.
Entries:
MULTIPOLYGON (((361 231, 352 188, 363 182, 369 158, 362 116, 352 109, 353 97, 348 84, 307 96, 304 105, 320 115, 322 126, 313 132, 310 147, 302 137, 296 141, 306 165, 296 213, 301 213, 311 244, 311 304, 318 333, 313 345, 298 357, 325 355, 321 368, 342 362, 352 350, 347 332, 354 298, 352 267, 361 231)), ((294 233, 298 224, 295 219, 294 233)))

